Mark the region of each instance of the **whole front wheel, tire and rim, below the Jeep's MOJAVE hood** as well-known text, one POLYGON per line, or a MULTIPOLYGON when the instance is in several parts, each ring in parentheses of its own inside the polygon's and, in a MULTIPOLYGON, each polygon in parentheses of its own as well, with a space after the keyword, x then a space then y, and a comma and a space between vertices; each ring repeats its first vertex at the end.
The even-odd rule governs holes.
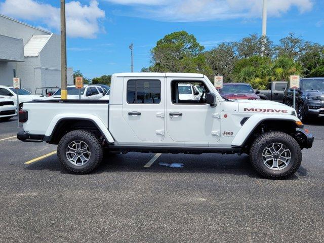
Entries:
POLYGON ((285 179, 300 167, 302 152, 297 141, 283 132, 267 132, 259 136, 250 149, 255 170, 269 179, 285 179))

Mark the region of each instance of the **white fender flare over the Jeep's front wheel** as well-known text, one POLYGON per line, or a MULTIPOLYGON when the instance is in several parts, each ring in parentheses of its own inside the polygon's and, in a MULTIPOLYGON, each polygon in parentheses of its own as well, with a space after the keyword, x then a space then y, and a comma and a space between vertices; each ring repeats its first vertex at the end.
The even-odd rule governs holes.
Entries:
POLYGON ((246 140, 250 137, 254 129, 259 126, 263 121, 266 120, 288 120, 293 121, 300 121, 298 117, 294 115, 277 115, 277 114, 255 114, 249 117, 249 119, 245 122, 245 124, 241 127, 238 131, 234 139, 232 140, 232 147, 241 147, 244 145, 246 140))

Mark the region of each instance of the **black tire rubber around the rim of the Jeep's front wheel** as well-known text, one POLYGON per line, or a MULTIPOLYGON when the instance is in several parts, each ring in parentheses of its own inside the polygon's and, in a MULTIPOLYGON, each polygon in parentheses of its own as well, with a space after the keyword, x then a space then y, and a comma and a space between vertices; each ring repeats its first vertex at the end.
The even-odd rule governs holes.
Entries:
POLYGON ((302 152, 297 141, 284 132, 267 132, 256 138, 250 148, 250 160, 255 170, 268 179, 286 179, 292 176, 300 167, 302 152), (291 152, 289 165, 282 170, 272 170, 263 163, 263 150, 271 143, 284 144, 291 152))

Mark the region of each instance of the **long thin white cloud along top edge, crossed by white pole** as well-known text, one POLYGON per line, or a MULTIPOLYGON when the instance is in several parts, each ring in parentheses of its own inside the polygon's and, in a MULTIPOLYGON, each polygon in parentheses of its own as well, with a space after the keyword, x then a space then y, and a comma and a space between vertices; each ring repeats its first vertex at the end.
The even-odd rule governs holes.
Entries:
MULTIPOLYGON (((195 22, 213 19, 261 17, 262 0, 106 0, 133 6, 132 12, 120 15, 146 17, 164 21, 195 22)), ((300 13, 310 11, 315 0, 268 0, 268 16, 277 17, 296 7, 300 13)))

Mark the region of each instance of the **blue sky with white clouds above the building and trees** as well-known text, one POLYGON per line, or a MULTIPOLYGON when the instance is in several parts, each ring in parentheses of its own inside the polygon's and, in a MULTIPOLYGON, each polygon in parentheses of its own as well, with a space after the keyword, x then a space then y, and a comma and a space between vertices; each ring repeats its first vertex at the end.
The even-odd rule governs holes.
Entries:
MULTIPOLYGON (((0 13, 59 33, 59 0, 0 0, 0 13), (22 5, 22 2, 24 3, 22 5)), ((211 49, 261 33, 262 0, 66 0, 67 61, 93 78, 150 63, 150 49, 166 34, 185 30, 211 49)), ((324 45, 324 1, 268 0, 268 36, 295 32, 324 45)))

